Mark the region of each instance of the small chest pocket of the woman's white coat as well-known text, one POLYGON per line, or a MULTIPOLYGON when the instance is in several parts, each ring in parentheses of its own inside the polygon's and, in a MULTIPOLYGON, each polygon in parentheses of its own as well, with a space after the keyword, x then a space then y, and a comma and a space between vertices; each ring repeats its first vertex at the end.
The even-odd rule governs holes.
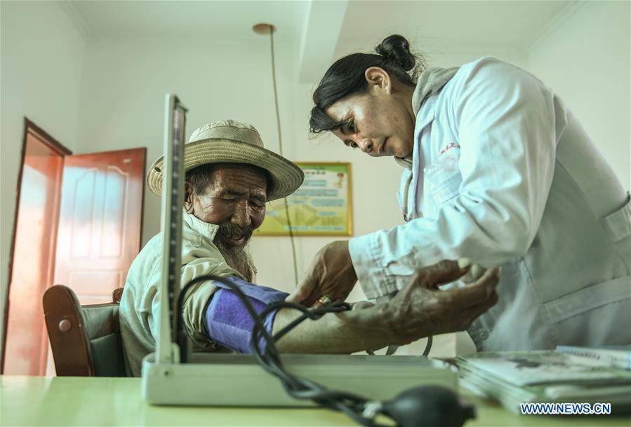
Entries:
POLYGON ((432 200, 437 205, 458 196, 463 177, 458 169, 458 155, 444 154, 439 160, 423 169, 429 183, 432 200))

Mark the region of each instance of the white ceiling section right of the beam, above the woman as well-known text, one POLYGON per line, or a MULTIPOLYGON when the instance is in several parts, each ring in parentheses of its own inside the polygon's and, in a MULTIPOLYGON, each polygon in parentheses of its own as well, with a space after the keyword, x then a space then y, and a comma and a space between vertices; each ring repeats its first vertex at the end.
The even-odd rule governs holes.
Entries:
POLYGON ((340 41, 404 34, 444 45, 524 48, 571 1, 350 1, 340 41))

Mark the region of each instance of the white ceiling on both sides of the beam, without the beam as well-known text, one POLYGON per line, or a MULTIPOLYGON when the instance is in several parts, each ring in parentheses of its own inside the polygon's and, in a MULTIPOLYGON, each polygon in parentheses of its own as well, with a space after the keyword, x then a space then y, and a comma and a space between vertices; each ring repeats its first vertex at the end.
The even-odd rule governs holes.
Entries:
MULTIPOLYGON (((317 1, 318 3, 321 2, 317 1)), ((65 1, 91 37, 247 39, 271 22, 279 40, 299 41, 310 0, 65 1)), ((522 47, 570 1, 338 1, 347 3, 338 43, 372 43, 383 34, 416 34, 444 43, 522 47)), ((330 16, 328 18, 331 18, 330 16)), ((319 25, 326 29, 329 19, 319 25)))

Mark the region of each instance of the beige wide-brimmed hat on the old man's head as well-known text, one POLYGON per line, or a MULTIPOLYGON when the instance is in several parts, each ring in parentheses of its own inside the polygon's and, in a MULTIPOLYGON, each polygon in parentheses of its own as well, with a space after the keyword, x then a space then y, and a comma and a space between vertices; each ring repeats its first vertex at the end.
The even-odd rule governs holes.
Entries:
MULTIPOLYGON (((254 126, 234 120, 197 128, 184 150, 185 171, 208 163, 246 163, 267 170, 272 177, 267 189, 268 201, 292 194, 305 179, 298 165, 263 147, 263 140, 254 126)), ((154 161, 147 175, 147 186, 158 196, 162 194, 163 161, 164 156, 154 161)))

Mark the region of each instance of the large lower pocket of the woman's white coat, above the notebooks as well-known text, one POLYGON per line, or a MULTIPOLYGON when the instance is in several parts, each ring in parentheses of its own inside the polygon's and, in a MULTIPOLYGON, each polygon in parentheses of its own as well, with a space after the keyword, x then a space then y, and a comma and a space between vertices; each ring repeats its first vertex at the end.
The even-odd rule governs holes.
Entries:
POLYGON ((631 341, 631 276, 585 287, 543 304, 557 344, 597 346, 631 341))

